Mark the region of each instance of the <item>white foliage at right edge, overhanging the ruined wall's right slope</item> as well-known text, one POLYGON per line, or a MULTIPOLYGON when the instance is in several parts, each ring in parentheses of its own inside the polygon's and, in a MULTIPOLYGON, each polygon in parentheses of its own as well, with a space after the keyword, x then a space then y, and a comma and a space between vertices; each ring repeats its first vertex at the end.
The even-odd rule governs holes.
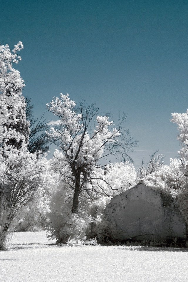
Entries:
POLYGON ((171 195, 188 224, 188 110, 182 114, 172 113, 171 121, 178 125, 177 139, 182 145, 179 159, 171 159, 169 165, 162 165, 142 182, 171 195))

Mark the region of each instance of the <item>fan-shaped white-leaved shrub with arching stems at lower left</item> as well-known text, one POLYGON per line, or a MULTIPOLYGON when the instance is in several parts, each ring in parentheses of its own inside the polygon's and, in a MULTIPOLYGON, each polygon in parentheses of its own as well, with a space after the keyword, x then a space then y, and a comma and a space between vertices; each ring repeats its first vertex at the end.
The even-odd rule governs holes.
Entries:
POLYGON ((31 158, 29 153, 18 154, 14 161, 12 158, 10 162, 7 159, 6 166, 6 171, 1 174, 0 184, 0 250, 5 249, 17 215, 33 200, 38 187, 42 185, 41 164, 36 156, 31 158))

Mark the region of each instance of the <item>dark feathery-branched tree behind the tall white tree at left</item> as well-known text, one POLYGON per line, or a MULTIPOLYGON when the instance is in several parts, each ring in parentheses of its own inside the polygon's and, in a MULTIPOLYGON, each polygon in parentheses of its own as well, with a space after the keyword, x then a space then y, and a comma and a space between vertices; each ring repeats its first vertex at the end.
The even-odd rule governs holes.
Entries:
POLYGON ((30 153, 41 152, 46 153, 49 150, 50 140, 46 130, 49 130, 48 122, 43 116, 38 120, 33 115, 33 105, 31 99, 26 97, 26 118, 30 124, 30 134, 28 141, 28 151, 30 153))

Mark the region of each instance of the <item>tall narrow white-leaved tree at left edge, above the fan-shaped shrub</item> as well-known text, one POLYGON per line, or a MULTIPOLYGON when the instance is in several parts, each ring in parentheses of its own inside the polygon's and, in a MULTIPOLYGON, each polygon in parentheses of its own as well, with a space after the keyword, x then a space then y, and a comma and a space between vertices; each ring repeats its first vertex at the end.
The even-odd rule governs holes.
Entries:
POLYGON ((13 53, 9 45, 0 46, 0 153, 6 156, 14 148, 26 150, 29 124, 26 121, 26 104, 22 96, 24 80, 12 66, 21 60, 16 52, 23 49, 19 42, 13 53))

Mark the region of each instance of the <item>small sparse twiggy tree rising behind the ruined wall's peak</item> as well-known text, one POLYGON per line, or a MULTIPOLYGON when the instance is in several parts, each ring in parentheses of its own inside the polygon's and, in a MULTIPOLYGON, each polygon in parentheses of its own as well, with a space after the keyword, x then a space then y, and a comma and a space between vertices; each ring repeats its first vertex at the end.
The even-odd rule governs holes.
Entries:
POLYGON ((158 151, 159 150, 155 151, 154 153, 152 153, 152 155, 150 155, 150 160, 147 163, 146 167, 144 164, 144 159, 142 159, 142 165, 137 170, 138 178, 144 178, 147 175, 150 175, 153 172, 160 170, 160 168, 164 165, 164 155, 156 155, 158 151))

